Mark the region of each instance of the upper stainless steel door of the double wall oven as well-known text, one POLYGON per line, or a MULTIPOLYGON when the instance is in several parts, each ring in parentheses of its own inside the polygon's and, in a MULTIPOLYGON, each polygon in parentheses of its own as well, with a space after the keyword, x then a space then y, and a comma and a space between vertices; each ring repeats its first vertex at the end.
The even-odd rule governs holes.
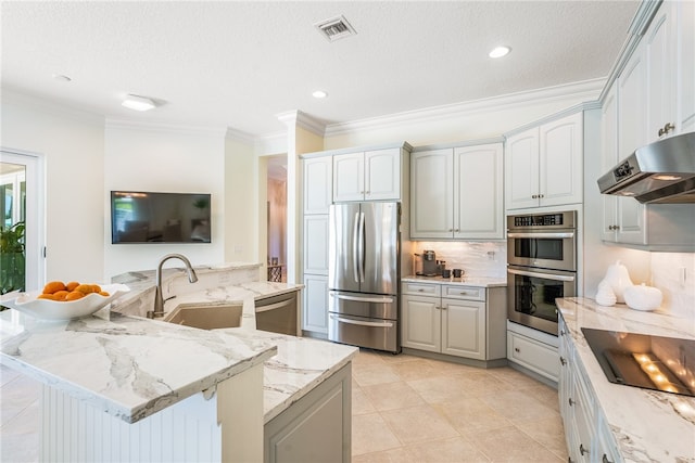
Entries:
POLYGON ((507 262, 513 266, 577 271, 576 230, 507 232, 507 262))

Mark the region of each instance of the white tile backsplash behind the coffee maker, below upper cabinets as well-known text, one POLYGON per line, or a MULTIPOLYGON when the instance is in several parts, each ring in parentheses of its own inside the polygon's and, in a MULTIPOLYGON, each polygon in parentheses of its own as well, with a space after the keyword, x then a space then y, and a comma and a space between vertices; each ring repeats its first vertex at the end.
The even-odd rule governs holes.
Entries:
POLYGON ((415 242, 413 250, 434 250, 447 269, 463 269, 469 276, 507 278, 506 242, 415 242))

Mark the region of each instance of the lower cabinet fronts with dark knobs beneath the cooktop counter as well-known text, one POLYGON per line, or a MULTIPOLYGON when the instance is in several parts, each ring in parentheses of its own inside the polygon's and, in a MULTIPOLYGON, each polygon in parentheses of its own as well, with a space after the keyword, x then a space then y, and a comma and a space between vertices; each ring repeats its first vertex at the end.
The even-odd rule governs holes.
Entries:
POLYGON ((612 433, 577 359, 571 336, 560 317, 558 396, 568 461, 621 462, 612 433))

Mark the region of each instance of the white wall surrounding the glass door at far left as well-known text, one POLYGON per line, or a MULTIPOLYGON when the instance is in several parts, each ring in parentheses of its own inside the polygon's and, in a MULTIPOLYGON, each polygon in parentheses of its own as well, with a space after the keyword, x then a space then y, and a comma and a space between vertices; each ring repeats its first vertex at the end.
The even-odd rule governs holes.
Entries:
POLYGON ((8 149, 46 159, 46 276, 104 280, 104 120, 3 89, 8 149))

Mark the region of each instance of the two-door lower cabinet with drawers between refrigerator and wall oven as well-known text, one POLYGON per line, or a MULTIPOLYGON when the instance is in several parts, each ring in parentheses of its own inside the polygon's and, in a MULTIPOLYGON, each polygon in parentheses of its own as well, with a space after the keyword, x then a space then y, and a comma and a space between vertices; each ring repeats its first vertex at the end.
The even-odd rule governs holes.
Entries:
POLYGON ((504 287, 403 283, 402 346, 473 360, 504 358, 504 287))

